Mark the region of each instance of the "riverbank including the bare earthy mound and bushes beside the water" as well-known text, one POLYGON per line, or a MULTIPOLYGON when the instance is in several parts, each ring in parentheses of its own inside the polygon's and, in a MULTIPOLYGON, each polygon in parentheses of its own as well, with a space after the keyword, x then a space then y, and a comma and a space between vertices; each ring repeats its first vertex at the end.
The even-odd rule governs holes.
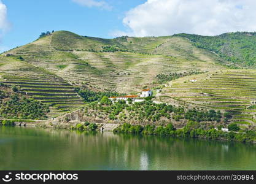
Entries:
MULTIPOLYGON (((11 123, 13 121, 7 121, 11 123)), ((256 132, 255 131, 230 131, 223 132, 216 130, 214 125, 206 126, 202 128, 202 123, 190 122, 184 125, 182 128, 173 126, 170 129, 169 124, 165 125, 143 125, 143 124, 132 124, 132 123, 113 123, 113 121, 95 121, 87 119, 83 110, 77 110, 75 112, 67 113, 60 118, 54 118, 48 121, 27 121, 26 123, 15 123, 18 126, 37 126, 41 128, 56 128, 56 129, 79 129, 79 131, 91 131, 85 123, 95 124, 96 128, 93 131, 113 131, 120 133, 130 134, 150 134, 158 136, 168 137, 190 137, 190 138, 201 138, 201 139, 212 139, 212 140, 227 140, 234 142, 250 142, 256 144, 256 132)))

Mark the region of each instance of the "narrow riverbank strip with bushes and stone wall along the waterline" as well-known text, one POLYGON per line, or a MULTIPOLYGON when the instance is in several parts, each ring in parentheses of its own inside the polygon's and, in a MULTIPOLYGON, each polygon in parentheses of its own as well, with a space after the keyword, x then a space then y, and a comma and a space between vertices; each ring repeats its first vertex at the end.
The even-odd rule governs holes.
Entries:
MULTIPOLYGON (((88 122, 87 122, 88 123, 88 122)), ((115 134, 141 134, 141 135, 153 135, 153 136, 164 136, 164 137, 181 137, 181 138, 199 138, 199 139, 209 139, 209 140, 225 140, 228 142, 247 142, 256 144, 256 132, 224 132, 217 129, 201 129, 196 128, 196 122, 190 122, 184 128, 174 128, 174 126, 169 123, 166 126, 153 126, 153 125, 131 125, 130 123, 111 124, 111 123, 81 123, 80 121, 72 121, 67 123, 57 125, 50 125, 42 122, 36 123, 14 123, 7 126, 29 126, 29 127, 39 127, 39 128, 54 128, 54 129, 77 129, 80 132, 114 132, 115 134), (72 123, 72 125, 70 124, 72 123), (92 126, 89 126, 92 125, 92 126)), ((0 125, 2 125, 0 123, 0 125)))

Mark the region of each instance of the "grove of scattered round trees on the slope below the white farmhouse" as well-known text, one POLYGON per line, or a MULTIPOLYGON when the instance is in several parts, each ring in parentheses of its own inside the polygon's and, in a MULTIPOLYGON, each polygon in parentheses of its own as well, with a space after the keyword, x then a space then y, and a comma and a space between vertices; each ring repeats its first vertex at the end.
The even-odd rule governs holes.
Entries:
POLYGON ((108 117, 109 120, 121 121, 137 121, 139 123, 155 123, 160 121, 204 121, 217 122, 222 121, 222 113, 220 111, 209 110, 204 112, 197 109, 186 109, 184 107, 176 107, 165 103, 155 104, 151 100, 144 102, 135 102, 134 104, 126 104, 125 101, 117 101, 112 103, 107 97, 103 97, 98 103, 92 102, 85 107, 85 113, 88 116, 93 114, 95 117, 108 117))

